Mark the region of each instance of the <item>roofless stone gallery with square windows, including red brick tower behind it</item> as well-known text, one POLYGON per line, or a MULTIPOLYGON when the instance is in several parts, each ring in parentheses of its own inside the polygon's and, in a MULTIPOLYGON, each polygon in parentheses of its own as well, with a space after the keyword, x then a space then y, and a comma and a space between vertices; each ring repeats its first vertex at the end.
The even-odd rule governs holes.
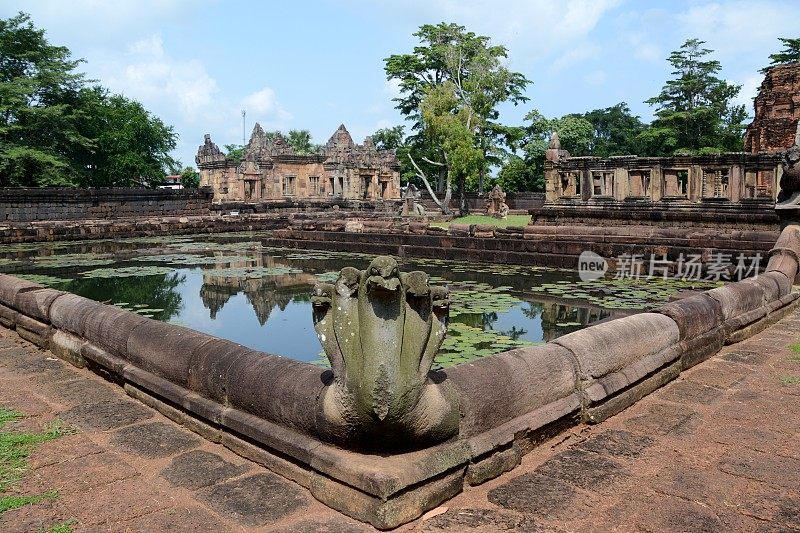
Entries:
POLYGON ((554 135, 545 161, 545 206, 537 220, 589 222, 602 216, 616 222, 704 218, 719 223, 741 215, 739 222, 746 222, 759 211, 765 221, 774 218, 768 212, 780 188, 781 154, 794 143, 800 119, 800 64, 767 72, 755 111, 743 152, 572 157, 554 135), (717 214, 711 216, 712 210, 717 214))

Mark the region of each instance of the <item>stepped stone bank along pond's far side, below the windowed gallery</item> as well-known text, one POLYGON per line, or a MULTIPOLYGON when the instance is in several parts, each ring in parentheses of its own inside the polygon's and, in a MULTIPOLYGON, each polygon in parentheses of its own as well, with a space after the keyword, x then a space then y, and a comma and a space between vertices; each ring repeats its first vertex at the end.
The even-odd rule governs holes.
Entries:
POLYGON ((666 254, 674 261, 680 254, 701 254, 706 262, 716 252, 734 257, 739 253, 764 257, 778 235, 777 229, 742 231, 633 225, 500 228, 482 224, 451 224, 444 229, 403 220, 320 219, 291 222, 288 229, 276 230, 264 243, 399 257, 575 268, 578 256, 585 250, 608 259, 622 254, 647 258, 666 254))

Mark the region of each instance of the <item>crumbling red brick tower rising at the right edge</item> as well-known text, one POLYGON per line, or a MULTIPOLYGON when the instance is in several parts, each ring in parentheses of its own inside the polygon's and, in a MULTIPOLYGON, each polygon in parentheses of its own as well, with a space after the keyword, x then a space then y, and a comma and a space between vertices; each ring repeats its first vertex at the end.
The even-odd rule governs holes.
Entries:
POLYGON ((767 71, 755 99, 755 118, 747 127, 747 152, 782 152, 794 144, 800 122, 800 63, 767 71))

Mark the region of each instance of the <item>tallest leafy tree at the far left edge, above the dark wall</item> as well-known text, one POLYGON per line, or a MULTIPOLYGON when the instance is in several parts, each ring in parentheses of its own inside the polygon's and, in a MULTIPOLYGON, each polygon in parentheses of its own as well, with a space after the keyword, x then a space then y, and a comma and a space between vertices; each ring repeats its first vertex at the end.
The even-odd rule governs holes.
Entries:
POLYGON ((75 185, 71 158, 94 143, 77 129, 83 75, 20 13, 0 19, 0 185, 75 185))

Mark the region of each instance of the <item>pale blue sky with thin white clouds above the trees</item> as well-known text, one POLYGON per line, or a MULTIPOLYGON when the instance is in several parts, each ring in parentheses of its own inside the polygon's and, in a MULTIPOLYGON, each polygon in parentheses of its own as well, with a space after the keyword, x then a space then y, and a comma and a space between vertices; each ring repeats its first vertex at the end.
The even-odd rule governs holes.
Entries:
POLYGON ((752 112, 758 69, 797 37, 796 0, 4 0, 26 11, 53 44, 69 47, 89 77, 141 101, 180 135, 175 155, 194 164, 203 134, 220 146, 266 129, 306 128, 318 143, 344 123, 357 142, 401 123, 383 58, 410 52, 421 24, 457 22, 509 49, 533 80, 530 101, 503 108, 521 123, 626 101, 643 103, 669 77, 669 52, 698 37, 722 77, 743 86, 752 112))

